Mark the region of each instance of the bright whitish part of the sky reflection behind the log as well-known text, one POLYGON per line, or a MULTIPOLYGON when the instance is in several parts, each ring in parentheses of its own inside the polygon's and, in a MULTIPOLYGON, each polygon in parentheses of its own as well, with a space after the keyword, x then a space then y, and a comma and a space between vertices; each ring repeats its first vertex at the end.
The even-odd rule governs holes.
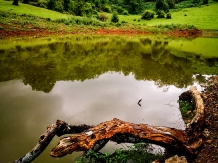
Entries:
POLYGON ((176 101, 183 91, 169 86, 164 92, 153 81, 107 73, 84 82, 59 81, 51 94, 63 99, 62 111, 70 123, 98 124, 116 117, 133 123, 177 127, 173 124, 179 117, 176 101), (137 104, 140 99, 141 107, 137 104))

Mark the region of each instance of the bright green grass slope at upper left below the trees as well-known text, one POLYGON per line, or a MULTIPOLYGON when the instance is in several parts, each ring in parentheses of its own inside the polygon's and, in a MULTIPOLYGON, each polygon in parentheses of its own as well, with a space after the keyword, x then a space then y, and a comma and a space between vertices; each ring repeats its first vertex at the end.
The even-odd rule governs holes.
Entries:
POLYGON ((0 0, 0 12, 1 11, 13 12, 16 14, 27 14, 27 15, 31 14, 42 18, 50 18, 52 20, 69 17, 69 15, 66 14, 62 14, 56 11, 51 11, 44 8, 23 4, 23 3, 19 3, 19 6, 14 6, 12 5, 12 1, 5 1, 5 0, 0 0))

